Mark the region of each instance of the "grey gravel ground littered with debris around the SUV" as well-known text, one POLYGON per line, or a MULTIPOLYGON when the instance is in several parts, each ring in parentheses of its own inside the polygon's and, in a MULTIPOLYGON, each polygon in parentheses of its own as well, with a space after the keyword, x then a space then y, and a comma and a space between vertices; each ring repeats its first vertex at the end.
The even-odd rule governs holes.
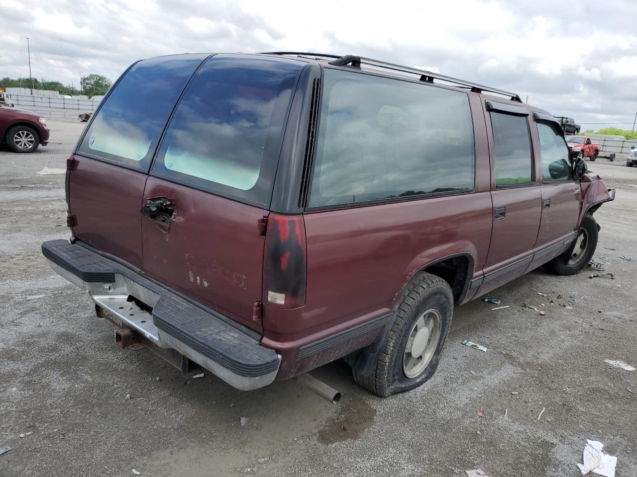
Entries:
POLYGON ((617 456, 617 476, 637 476, 637 371, 605 363, 637 366, 637 168, 589 163, 617 188, 595 216, 595 256, 615 280, 531 272, 490 294, 510 308, 457 308, 420 389, 380 399, 342 361, 314 371, 343 392, 333 406, 294 381, 241 392, 118 349, 39 249, 69 234, 64 176, 36 172, 66 167, 83 123, 50 127, 37 153, 0 146, 0 476, 575 477, 586 439, 617 456))

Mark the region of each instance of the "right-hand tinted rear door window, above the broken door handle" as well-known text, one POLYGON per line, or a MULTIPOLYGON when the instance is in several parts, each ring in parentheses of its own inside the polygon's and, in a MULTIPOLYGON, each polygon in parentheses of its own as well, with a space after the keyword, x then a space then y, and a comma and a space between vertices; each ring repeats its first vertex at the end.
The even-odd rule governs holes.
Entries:
POLYGON ((183 93, 153 174, 269 204, 292 91, 304 66, 233 55, 207 60, 183 93))

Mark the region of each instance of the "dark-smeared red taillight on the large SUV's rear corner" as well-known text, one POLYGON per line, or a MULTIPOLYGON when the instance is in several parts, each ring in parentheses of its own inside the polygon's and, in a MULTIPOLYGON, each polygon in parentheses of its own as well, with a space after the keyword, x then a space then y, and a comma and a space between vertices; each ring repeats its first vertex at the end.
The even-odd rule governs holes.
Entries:
POLYGON ((276 308, 305 304, 306 241, 303 216, 269 214, 263 301, 276 308))

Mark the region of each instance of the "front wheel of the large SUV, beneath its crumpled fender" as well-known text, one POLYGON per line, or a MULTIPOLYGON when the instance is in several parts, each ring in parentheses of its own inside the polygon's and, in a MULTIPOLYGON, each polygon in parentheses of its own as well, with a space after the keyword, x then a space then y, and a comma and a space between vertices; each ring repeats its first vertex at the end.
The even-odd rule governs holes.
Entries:
POLYGON ((555 275, 575 275, 589 263, 597 248, 599 226, 590 214, 585 214, 575 243, 544 267, 555 275))

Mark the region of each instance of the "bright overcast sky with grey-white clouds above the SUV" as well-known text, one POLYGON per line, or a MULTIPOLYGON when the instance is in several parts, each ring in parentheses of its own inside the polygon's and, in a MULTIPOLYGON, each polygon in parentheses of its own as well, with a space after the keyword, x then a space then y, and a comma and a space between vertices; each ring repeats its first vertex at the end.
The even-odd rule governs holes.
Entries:
POLYGON ((77 86, 183 52, 356 54, 511 90, 582 129, 632 128, 637 0, 3 0, 0 77, 77 86), (626 124, 621 124, 626 123, 626 124))

